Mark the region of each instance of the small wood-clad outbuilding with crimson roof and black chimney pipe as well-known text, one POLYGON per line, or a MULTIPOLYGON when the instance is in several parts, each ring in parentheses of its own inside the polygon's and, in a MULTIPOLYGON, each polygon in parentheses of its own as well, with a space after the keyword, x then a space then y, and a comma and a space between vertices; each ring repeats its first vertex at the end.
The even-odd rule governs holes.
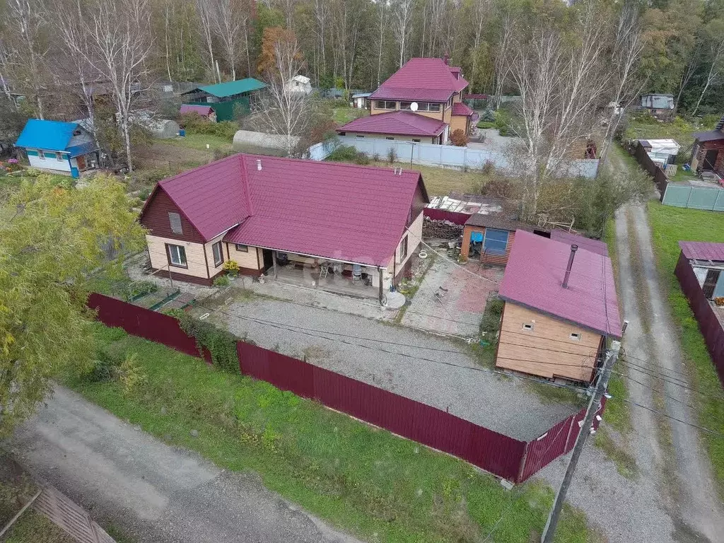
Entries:
POLYGON ((499 368, 590 382, 606 339, 622 335, 610 258, 586 238, 516 231, 499 296, 499 368))

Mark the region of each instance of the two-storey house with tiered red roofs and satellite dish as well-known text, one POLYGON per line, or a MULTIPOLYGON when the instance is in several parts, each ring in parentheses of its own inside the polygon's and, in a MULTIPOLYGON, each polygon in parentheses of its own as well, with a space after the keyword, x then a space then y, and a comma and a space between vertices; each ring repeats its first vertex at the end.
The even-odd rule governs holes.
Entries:
POLYGON ((370 116, 337 129, 357 138, 445 144, 455 130, 470 131, 475 112, 463 104, 468 82, 445 59, 410 59, 368 100, 370 116))

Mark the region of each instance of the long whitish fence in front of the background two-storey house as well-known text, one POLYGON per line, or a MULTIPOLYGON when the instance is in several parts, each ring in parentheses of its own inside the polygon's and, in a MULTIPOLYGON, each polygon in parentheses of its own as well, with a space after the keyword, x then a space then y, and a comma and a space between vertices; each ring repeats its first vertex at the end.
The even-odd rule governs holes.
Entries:
MULTIPOLYGON (((367 153, 369 156, 377 155, 383 160, 390 153, 390 148, 394 148, 397 161, 412 161, 413 164, 479 169, 486 162, 490 162, 494 167, 502 170, 512 170, 514 166, 513 159, 510 156, 495 151, 485 151, 484 149, 376 138, 355 138, 353 136, 340 136, 337 140, 341 145, 353 146, 358 151, 367 153)), ((334 140, 317 143, 309 148, 309 158, 317 161, 324 160, 334 151, 335 145, 334 140)), ((568 164, 567 169, 560 171, 560 177, 581 176, 592 179, 596 177, 597 169, 597 159, 574 160, 568 164)))

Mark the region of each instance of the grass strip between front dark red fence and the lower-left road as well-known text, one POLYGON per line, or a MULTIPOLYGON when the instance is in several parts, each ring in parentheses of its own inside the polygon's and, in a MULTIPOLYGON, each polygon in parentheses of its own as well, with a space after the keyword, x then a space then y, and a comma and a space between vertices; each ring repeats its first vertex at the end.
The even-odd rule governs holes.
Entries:
MULTIPOLYGON (((95 327, 111 360, 138 354, 146 381, 67 384, 146 432, 222 468, 258 472, 269 489, 374 542, 528 543, 553 498, 537 482, 513 492, 467 463, 393 436, 270 384, 217 371, 120 329, 95 327), (190 431, 198 430, 198 437, 190 431), (498 521, 500 520, 500 523, 498 521)), ((566 507, 560 543, 598 542, 584 513, 566 507)))

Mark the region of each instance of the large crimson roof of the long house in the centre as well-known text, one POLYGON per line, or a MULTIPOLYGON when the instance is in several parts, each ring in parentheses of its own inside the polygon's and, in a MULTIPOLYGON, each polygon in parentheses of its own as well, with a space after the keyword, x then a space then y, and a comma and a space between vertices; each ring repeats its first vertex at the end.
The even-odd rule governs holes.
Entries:
POLYGON ((155 190, 167 193, 206 241, 227 232, 230 243, 387 266, 418 185, 426 200, 419 172, 240 153, 155 190))

